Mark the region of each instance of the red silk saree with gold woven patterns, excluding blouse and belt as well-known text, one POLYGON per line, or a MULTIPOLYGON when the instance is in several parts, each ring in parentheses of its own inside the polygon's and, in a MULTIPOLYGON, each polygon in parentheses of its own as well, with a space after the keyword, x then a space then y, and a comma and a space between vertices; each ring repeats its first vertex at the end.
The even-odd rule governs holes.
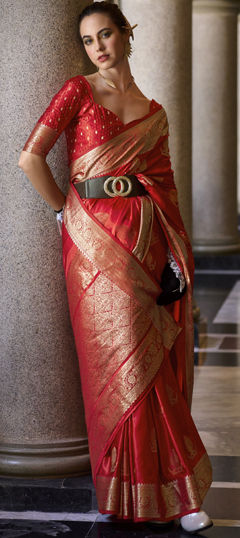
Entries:
POLYGON ((193 258, 163 109, 73 162, 63 259, 99 511, 168 521, 199 510, 211 465, 191 417, 193 258), (81 200, 74 183, 136 174, 147 195, 81 200), (157 306, 170 248, 187 283, 157 306))

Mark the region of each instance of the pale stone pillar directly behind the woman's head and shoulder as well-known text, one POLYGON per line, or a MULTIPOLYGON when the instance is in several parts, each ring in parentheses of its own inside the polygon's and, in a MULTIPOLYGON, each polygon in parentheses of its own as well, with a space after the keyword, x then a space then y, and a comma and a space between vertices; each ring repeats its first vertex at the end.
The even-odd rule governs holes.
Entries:
POLYGON ((166 109, 181 214, 191 235, 191 0, 121 0, 134 30, 131 70, 166 109))

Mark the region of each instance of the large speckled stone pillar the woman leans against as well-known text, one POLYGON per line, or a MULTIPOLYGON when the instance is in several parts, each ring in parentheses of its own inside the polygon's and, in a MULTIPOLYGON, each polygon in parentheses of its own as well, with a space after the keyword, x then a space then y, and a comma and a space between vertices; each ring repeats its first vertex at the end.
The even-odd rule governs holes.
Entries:
MULTIPOLYGON (((0 474, 89 472, 78 360, 53 211, 18 168, 51 97, 87 72, 78 14, 89 0, 1 0, 0 474)), ((64 188, 64 137, 48 159, 64 188)))

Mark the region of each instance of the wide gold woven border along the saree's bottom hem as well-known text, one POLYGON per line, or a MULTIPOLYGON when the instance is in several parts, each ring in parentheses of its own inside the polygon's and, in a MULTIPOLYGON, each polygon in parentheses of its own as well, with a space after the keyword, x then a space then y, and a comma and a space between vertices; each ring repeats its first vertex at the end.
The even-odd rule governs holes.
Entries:
POLYGON ((100 512, 135 520, 174 519, 183 512, 200 508, 211 481, 212 470, 207 454, 201 457, 191 475, 167 484, 131 485, 117 477, 97 476, 98 508, 100 512))

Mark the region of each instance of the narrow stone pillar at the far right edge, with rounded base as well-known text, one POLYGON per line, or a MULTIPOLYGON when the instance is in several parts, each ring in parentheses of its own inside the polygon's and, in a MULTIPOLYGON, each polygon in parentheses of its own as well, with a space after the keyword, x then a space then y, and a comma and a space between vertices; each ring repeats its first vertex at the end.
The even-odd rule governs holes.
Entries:
POLYGON ((240 248, 237 229, 237 16, 240 2, 193 1, 193 238, 240 248))

